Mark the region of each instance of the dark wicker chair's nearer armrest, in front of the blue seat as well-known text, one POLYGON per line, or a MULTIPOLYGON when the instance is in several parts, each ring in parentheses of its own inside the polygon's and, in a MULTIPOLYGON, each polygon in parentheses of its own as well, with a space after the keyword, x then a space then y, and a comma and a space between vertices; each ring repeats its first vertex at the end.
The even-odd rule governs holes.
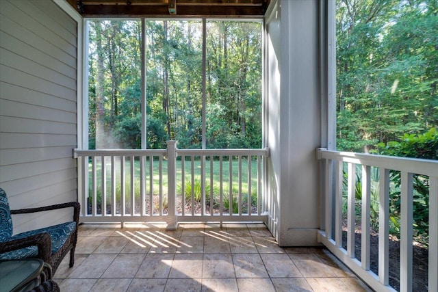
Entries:
POLYGON ((38 258, 49 262, 52 254, 52 243, 49 233, 38 233, 29 237, 0 242, 0 253, 12 252, 21 248, 36 245, 38 247, 38 258))

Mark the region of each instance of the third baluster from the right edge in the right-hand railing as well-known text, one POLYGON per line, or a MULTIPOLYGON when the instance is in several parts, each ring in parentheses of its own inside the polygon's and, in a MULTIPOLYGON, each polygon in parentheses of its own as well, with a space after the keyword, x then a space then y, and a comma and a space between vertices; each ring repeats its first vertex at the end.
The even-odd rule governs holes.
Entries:
POLYGON ((379 169, 378 208, 378 280, 389 280, 389 170, 379 169))

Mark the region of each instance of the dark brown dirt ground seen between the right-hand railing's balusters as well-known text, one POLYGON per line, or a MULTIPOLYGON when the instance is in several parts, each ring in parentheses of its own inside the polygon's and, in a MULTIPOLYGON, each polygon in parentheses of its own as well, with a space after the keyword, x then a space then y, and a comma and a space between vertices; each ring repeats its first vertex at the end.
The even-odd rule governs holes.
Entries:
MULTIPOLYGON (((361 233, 355 236, 355 256, 361 260, 361 233)), ((346 233, 344 233, 346 248, 346 233)), ((428 291, 428 249, 422 245, 413 245, 413 291, 428 291)), ((378 275, 378 235, 370 236, 370 266, 378 275)), ((400 291, 400 241, 389 240, 389 285, 400 291)))

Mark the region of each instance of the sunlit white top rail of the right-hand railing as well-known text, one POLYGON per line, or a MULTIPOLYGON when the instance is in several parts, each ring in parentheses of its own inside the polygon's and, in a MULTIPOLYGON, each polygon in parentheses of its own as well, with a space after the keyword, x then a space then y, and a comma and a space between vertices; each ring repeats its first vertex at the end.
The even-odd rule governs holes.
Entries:
POLYGON ((386 155, 374 155, 355 152, 341 152, 318 148, 318 159, 333 159, 370 165, 389 170, 400 170, 413 174, 424 174, 428 176, 438 176, 438 161, 431 159, 417 159, 408 157, 394 157, 386 155))

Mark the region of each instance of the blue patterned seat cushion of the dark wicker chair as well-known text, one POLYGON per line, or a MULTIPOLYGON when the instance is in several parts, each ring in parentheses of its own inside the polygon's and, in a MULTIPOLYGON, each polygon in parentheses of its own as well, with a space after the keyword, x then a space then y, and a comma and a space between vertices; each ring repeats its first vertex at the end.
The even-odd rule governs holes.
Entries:
MULTIPOLYGON (((14 239, 24 239, 30 235, 36 235, 38 233, 49 233, 52 243, 52 254, 55 254, 62 245, 68 239, 71 233, 76 229, 76 222, 66 222, 62 224, 57 224, 55 226, 50 226, 46 228, 40 228, 37 230, 26 231, 24 233, 19 233, 9 238, 9 240, 14 239)), ((21 248, 19 250, 14 250, 12 252, 5 252, 0 254, 0 260, 10 260, 17 258, 36 258, 38 256, 38 248, 36 246, 29 246, 27 248, 21 248)))

